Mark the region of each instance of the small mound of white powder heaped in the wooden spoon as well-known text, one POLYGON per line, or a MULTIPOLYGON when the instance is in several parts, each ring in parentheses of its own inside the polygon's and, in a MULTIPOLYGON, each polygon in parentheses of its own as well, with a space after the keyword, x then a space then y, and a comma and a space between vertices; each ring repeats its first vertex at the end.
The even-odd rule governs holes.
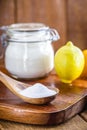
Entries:
POLYGON ((43 98, 55 95, 56 91, 47 88, 43 84, 36 83, 35 85, 22 90, 20 94, 30 98, 43 98))

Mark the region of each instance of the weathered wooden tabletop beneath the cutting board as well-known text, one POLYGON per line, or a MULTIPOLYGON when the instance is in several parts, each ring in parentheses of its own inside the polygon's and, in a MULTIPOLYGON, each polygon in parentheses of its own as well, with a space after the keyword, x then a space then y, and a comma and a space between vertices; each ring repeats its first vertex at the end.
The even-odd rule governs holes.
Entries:
MULTIPOLYGON (((68 120, 64 124, 56 126, 38 126, 38 125, 26 125, 21 123, 14 123, 9 121, 0 120, 1 128, 5 130, 86 130, 87 123, 80 117, 75 116, 71 120, 68 120)), ((1 130, 3 130, 1 129, 1 130)))

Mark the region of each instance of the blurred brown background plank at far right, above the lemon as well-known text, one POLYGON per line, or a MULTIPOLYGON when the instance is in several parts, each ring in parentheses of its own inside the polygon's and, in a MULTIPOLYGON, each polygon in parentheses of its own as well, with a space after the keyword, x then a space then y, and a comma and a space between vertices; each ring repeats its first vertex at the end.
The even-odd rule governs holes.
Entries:
POLYGON ((87 0, 68 0, 67 19, 68 39, 87 48, 87 0))

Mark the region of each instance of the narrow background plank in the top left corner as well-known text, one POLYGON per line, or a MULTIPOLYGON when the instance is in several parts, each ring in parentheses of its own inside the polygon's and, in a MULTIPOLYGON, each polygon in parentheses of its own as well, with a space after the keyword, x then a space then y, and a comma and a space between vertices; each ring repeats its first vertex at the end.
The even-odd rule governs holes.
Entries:
POLYGON ((0 26, 9 25, 15 21, 14 0, 0 0, 0 26))

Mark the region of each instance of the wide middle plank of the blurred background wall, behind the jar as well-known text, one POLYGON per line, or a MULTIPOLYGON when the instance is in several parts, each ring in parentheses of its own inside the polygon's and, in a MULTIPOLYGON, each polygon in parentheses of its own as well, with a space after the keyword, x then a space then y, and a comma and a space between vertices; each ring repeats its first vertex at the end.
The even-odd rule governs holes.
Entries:
POLYGON ((61 39, 54 44, 57 49, 66 41, 65 0, 18 0, 16 22, 41 22, 57 29, 61 39))

